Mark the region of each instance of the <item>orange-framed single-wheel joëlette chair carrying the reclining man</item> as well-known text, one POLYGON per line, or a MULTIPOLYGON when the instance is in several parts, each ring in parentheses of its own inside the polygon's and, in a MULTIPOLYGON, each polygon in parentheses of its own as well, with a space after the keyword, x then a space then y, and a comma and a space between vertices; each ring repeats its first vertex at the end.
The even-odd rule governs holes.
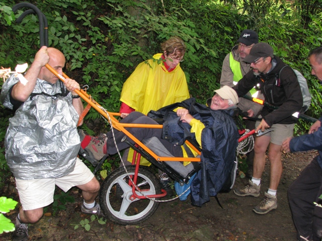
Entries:
MULTIPOLYGON (((44 14, 40 10, 29 3, 20 3, 15 5, 12 9, 13 12, 21 8, 29 8, 17 19, 20 23, 24 17, 28 14, 37 14, 39 18, 39 33, 40 33, 40 47, 48 46, 48 24, 44 14)), ((56 75, 62 82, 65 78, 68 78, 65 74, 61 76, 50 65, 46 64, 46 67, 56 75)), ((88 113, 91 107, 95 108, 111 125, 111 128, 123 132, 127 138, 133 140, 136 144, 132 145, 126 139, 127 142, 137 154, 137 162, 135 165, 125 168, 120 167, 114 170, 108 175, 101 186, 100 192, 100 205, 106 217, 119 224, 136 224, 147 219, 156 210, 159 200, 167 195, 167 192, 160 187, 159 181, 155 175, 150 171, 150 168, 140 166, 140 156, 146 158, 159 170, 168 174, 170 178, 181 184, 187 184, 190 178, 199 170, 200 158, 179 158, 169 155, 167 150, 162 147, 160 150, 155 149, 159 145, 155 140, 148 140, 147 142, 140 142, 134 136, 132 136, 125 128, 163 128, 162 125, 140 125, 140 124, 122 124, 117 120, 117 116, 120 113, 108 112, 99 103, 97 103, 85 90, 75 91, 81 96, 87 103, 83 114, 80 116, 79 123, 88 113), (151 150, 153 149, 153 151, 151 150), (190 169, 182 169, 180 162, 189 161, 192 163, 190 169), (180 165, 180 166, 178 166, 180 165)), ((244 135, 239 139, 239 142, 251 137, 255 131, 244 135)), ((199 155, 201 150, 194 144, 186 141, 186 144, 194 149, 199 155)), ((84 153, 80 153, 83 157, 87 158, 84 153)), ((102 164, 106 160, 107 155, 104 156, 99 162, 92 163, 96 166, 94 173, 101 169, 102 164)), ((93 161, 93 160, 92 160, 93 161)), ((233 172, 237 162, 235 162, 233 172)), ((134 159, 133 159, 134 164, 134 159)), ((233 185, 233 184, 232 184, 233 185)))

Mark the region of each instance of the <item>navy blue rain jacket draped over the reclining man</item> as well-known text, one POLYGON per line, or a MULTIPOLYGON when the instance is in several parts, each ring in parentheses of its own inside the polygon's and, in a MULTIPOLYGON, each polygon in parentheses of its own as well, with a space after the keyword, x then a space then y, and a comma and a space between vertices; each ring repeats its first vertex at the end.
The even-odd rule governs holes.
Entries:
POLYGON ((182 145, 186 138, 194 139, 190 133, 191 126, 180 122, 180 117, 173 111, 176 107, 185 107, 205 128, 202 130, 201 170, 191 183, 191 202, 202 206, 210 196, 216 196, 222 189, 236 160, 238 130, 232 118, 234 110, 211 110, 203 104, 187 99, 159 109, 150 111, 148 116, 163 118, 163 139, 182 145))

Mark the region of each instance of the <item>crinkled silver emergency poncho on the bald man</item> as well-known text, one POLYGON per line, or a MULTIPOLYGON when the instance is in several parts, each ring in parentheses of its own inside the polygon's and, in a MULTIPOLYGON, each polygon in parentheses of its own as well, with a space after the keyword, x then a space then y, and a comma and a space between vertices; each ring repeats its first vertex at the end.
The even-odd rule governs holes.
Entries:
MULTIPOLYGON (((0 100, 13 109, 10 88, 19 81, 12 75, 3 85, 0 100)), ((64 86, 63 86, 64 87, 64 86)), ((37 79, 33 93, 61 93, 59 82, 37 79)), ((9 119, 5 138, 6 159, 19 179, 58 178, 72 172, 81 141, 77 133, 79 115, 71 93, 29 97, 9 119)))

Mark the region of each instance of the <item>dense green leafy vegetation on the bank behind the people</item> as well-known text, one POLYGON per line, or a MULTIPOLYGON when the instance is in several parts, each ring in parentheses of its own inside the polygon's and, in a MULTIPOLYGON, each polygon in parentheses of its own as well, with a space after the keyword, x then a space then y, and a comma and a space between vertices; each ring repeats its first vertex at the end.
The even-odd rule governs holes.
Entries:
MULTIPOLYGON (((39 49, 38 18, 28 15, 17 24, 7 8, 14 5, 13 0, 0 2, 0 63, 12 69, 31 63, 39 49)), ((271 44, 276 55, 307 78, 313 99, 306 114, 318 117, 322 112, 320 86, 307 60, 310 50, 321 45, 320 1, 50 0, 36 5, 48 20, 49 46, 66 56, 65 73, 81 86, 89 85, 88 92, 110 111, 119 110, 122 85, 136 65, 160 52, 159 44, 170 36, 186 42, 181 66, 190 92, 204 102, 219 86, 223 58, 239 33, 254 29, 260 41, 271 44)), ((3 136, 9 116, 0 115, 0 171, 7 168, 3 136)), ((99 133, 108 127, 91 110, 83 128, 99 133)), ((299 122, 296 134, 307 128, 299 122)))

